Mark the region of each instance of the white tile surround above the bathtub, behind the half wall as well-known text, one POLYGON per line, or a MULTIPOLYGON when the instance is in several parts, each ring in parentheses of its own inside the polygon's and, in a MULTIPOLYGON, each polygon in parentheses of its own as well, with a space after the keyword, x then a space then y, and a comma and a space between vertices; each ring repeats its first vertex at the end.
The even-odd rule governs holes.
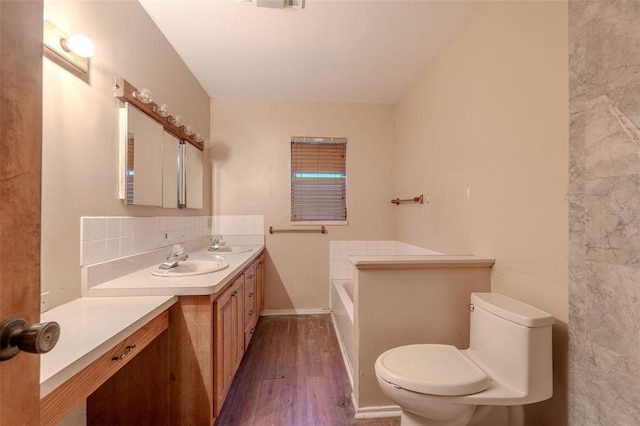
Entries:
POLYGON ((440 254, 400 241, 330 241, 329 278, 346 280, 353 278, 353 264, 349 255, 385 256, 404 254, 440 254))

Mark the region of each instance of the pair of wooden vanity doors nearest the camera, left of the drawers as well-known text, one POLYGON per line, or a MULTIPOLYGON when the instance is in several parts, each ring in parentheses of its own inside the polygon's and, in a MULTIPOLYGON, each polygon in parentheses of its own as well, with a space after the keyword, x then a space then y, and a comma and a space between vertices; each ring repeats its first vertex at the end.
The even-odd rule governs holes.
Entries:
POLYGON ((222 409, 244 355, 244 284, 242 274, 213 303, 214 413, 222 409))

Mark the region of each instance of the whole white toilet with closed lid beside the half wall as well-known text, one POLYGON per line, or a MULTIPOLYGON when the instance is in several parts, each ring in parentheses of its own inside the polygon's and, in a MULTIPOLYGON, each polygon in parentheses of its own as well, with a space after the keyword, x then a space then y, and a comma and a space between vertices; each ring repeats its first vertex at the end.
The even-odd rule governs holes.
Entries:
POLYGON ((497 293, 472 293, 469 310, 469 349, 407 345, 376 360, 402 426, 521 426, 523 404, 551 397, 553 316, 497 293))

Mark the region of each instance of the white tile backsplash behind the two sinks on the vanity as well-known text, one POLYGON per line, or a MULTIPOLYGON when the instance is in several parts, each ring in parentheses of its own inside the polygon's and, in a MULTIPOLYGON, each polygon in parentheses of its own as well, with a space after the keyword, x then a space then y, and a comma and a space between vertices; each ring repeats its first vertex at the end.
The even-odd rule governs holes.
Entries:
POLYGON ((264 235, 264 216, 84 216, 80 264, 89 265, 209 235, 264 235))

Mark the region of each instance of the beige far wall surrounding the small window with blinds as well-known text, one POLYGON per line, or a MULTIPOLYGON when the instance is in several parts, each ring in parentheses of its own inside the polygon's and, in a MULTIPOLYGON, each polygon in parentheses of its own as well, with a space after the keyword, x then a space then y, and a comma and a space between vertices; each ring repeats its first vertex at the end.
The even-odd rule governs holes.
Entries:
POLYGON ((265 230, 266 309, 327 308, 329 241, 391 239, 393 129, 389 105, 212 101, 214 214, 262 214, 267 229, 291 228, 291 136, 349 140, 349 225, 325 235, 265 230))

